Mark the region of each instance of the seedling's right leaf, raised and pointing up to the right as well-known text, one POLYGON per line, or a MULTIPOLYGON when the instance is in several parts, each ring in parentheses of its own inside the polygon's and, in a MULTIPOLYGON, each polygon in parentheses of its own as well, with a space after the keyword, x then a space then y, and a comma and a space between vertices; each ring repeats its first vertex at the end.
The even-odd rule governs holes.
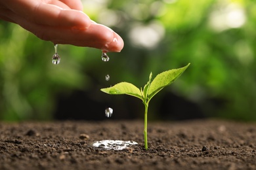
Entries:
POLYGON ((186 70, 186 68, 188 68, 189 65, 190 63, 180 69, 171 69, 157 75, 150 84, 150 88, 148 90, 148 101, 150 101, 150 99, 152 99, 152 97, 156 95, 156 93, 158 93, 160 90, 162 90, 165 86, 168 86, 169 84, 173 83, 177 78, 179 78, 179 76, 182 75, 182 73, 186 70))

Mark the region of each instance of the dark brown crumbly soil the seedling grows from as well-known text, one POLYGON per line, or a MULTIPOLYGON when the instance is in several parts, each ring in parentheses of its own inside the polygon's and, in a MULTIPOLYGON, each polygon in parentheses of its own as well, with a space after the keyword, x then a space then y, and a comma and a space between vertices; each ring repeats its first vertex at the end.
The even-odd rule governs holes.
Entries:
POLYGON ((256 124, 224 120, 0 123, 0 169, 256 169, 256 124), (104 139, 135 141, 103 150, 104 139))

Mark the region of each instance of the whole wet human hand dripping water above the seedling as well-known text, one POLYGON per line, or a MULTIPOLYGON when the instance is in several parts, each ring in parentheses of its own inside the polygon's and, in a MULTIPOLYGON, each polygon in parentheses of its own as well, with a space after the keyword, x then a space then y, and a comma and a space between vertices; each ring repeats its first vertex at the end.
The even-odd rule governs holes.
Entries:
POLYGON ((120 52, 123 39, 82 10, 80 0, 0 0, 0 19, 20 25, 39 39, 120 52))

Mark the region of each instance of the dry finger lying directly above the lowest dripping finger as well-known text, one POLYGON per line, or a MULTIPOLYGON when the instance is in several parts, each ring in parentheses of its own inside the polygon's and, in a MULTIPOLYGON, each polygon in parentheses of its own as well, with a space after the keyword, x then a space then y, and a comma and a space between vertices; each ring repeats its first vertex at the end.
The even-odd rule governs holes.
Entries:
MULTIPOLYGON (((18 16, 41 25, 59 27, 76 26, 81 29, 87 29, 91 25, 89 16, 80 10, 72 10, 61 1, 51 2, 54 5, 27 0, 23 1, 23 3, 19 3, 18 1, 18 4, 7 3, 7 6, 18 16)), ((19 24, 19 21, 16 20, 16 23, 19 24)))

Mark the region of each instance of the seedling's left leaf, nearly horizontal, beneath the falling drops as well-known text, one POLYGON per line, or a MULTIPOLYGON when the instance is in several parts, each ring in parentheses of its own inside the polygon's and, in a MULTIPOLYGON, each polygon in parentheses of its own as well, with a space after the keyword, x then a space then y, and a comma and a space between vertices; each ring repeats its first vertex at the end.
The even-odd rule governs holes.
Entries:
POLYGON ((143 100, 139 88, 137 88, 135 85, 129 82, 120 82, 120 83, 117 83, 115 86, 112 86, 110 88, 102 88, 100 90, 108 94, 133 95, 143 100))

